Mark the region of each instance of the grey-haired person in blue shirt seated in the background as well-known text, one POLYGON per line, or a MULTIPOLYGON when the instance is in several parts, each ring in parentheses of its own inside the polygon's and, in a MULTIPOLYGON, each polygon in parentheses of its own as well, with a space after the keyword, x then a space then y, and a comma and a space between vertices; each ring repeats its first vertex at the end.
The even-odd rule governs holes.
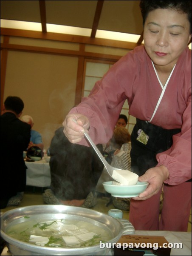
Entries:
POLYGON ((43 143, 42 143, 42 136, 38 131, 32 130, 34 125, 33 118, 31 116, 25 115, 21 118, 21 121, 28 123, 31 126, 31 138, 28 145, 28 148, 33 146, 39 147, 43 151, 43 143))

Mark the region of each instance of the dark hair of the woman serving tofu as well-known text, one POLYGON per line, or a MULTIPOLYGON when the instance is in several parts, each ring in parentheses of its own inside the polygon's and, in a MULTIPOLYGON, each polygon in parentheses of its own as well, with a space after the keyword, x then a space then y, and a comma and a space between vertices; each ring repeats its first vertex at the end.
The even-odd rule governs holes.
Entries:
POLYGON ((184 12, 187 14, 190 23, 191 34, 191 1, 141 1, 140 9, 143 17, 143 26, 149 12, 155 9, 175 9, 184 12))

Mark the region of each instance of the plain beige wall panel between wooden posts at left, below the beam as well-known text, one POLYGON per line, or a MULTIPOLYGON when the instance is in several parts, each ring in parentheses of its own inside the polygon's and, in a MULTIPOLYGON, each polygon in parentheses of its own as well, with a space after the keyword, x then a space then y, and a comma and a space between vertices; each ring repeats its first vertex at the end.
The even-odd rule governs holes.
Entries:
POLYGON ((75 100, 77 57, 8 51, 4 100, 18 96, 48 149, 75 100))

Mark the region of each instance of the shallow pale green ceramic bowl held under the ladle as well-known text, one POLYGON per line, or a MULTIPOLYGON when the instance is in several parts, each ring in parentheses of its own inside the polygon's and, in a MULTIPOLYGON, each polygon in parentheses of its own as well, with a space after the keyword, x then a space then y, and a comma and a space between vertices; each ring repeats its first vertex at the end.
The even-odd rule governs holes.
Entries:
POLYGON ((146 190, 148 182, 137 182, 132 186, 112 185, 112 181, 103 182, 104 190, 115 197, 136 197, 146 190))

